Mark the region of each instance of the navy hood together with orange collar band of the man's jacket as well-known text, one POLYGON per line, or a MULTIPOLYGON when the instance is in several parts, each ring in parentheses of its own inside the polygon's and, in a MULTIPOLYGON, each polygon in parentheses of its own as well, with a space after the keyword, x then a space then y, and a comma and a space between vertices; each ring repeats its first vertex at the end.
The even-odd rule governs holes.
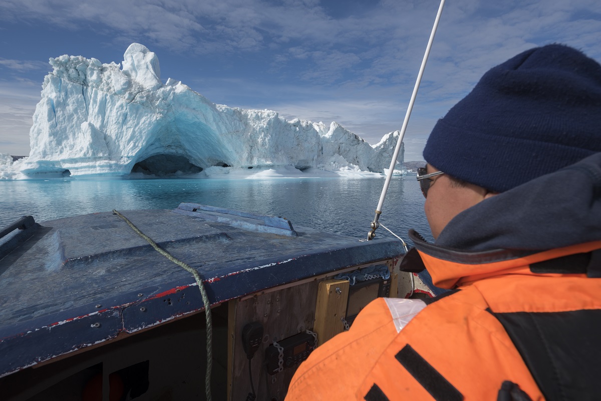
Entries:
MULTIPOLYGON (((567 255, 588 255, 601 248, 601 153, 483 200, 451 220, 435 244, 415 231, 409 236, 433 282, 443 288, 462 277, 465 281, 468 276, 528 270, 531 264, 567 255)), ((593 270, 601 270, 600 252, 529 272, 597 277, 593 270)))

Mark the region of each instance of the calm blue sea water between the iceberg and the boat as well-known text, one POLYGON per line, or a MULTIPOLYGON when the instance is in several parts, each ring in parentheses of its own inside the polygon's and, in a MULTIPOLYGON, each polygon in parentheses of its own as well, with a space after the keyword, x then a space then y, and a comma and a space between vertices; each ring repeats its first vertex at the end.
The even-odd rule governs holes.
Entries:
MULTIPOLYGON (((102 211, 173 209, 181 202, 287 217, 293 226, 367 238, 384 178, 50 179, 0 181, 0 228, 23 215, 37 222, 102 211)), ((431 240, 415 175, 391 180, 380 222, 407 241, 431 240)), ((392 238, 383 228, 378 237, 392 238)))

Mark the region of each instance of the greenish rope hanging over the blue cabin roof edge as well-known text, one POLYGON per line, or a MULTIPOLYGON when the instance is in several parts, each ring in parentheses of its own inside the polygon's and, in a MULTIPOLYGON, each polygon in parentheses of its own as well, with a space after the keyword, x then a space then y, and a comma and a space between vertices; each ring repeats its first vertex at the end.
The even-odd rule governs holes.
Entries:
POLYGON ((148 243, 150 243, 150 245, 157 251, 159 252, 161 255, 165 256, 165 258, 169 259, 169 261, 173 262, 174 264, 183 267, 186 271, 188 271, 189 273, 192 274, 192 276, 194 276, 194 278, 196 279, 196 282, 198 284, 198 289, 200 289, 200 294, 203 296, 203 303, 204 303, 204 313, 206 315, 206 320, 207 320, 207 374, 205 376, 204 379, 204 385, 205 385, 205 391, 207 394, 207 401, 211 401, 211 369, 213 367, 213 322, 212 322, 212 318, 211 318, 211 304, 209 302, 209 297, 207 296, 207 290, 204 288, 203 285, 203 280, 200 278, 200 274, 198 274, 198 271, 196 271, 195 269, 191 268, 189 265, 186 265, 184 262, 180 261, 179 259, 174 258, 174 256, 172 256, 169 252, 166 252, 166 250, 160 248, 150 237, 148 237, 148 235, 144 234, 143 232, 141 232, 136 226, 133 225, 132 222, 130 222, 127 217, 123 216, 123 214, 119 213, 118 211, 113 209, 113 214, 116 214, 117 216, 121 217, 121 219, 125 220, 125 222, 127 223, 127 225, 129 225, 133 231, 135 231, 136 233, 138 233, 138 235, 142 238, 144 238, 144 240, 148 241, 148 243))

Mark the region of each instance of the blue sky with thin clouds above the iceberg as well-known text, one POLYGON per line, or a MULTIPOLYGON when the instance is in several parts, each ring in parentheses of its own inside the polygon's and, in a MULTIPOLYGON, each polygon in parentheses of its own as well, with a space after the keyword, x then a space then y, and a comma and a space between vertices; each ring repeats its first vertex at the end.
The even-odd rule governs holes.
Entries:
MULTIPOLYGON (((60 55, 156 53, 160 77, 218 104, 336 121, 370 144, 400 130, 432 31, 433 0, 2 0, 0 153, 29 154, 41 83, 60 55)), ((564 43, 601 61, 599 0, 447 0, 404 137, 421 152, 489 68, 564 43)))

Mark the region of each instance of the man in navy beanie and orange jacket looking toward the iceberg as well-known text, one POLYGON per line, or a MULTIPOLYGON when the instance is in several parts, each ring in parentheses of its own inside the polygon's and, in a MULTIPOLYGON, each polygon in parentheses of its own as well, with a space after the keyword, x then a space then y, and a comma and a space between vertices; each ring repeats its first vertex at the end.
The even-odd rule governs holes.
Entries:
POLYGON ((418 180, 436 286, 379 298, 287 400, 601 399, 601 65, 558 44, 488 71, 430 134, 418 180))

